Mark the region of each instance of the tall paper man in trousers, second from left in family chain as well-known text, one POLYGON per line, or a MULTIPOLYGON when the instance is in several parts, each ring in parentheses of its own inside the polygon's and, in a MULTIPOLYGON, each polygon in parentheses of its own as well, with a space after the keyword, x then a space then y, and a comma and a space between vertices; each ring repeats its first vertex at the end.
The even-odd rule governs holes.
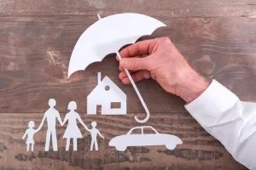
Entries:
POLYGON ((39 131, 43 125, 45 119, 47 119, 47 134, 46 134, 46 142, 45 142, 45 151, 49 151, 49 140, 51 138, 52 145, 53 145, 53 150, 57 151, 58 150, 58 145, 57 145, 57 136, 56 136, 56 118, 62 124, 61 121, 61 116, 59 111, 55 110, 54 106, 56 105, 55 99, 49 99, 49 110, 45 111, 44 113, 44 118, 38 127, 37 131, 39 131))

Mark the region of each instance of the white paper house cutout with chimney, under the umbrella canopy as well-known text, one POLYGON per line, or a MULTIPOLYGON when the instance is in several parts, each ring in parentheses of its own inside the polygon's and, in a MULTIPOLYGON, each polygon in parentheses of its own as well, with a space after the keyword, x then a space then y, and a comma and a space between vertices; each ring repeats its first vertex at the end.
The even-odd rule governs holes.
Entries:
POLYGON ((102 105, 102 115, 126 114, 126 94, 109 77, 101 80, 101 72, 96 88, 87 96, 87 114, 96 115, 97 105, 102 105), (119 102, 120 108, 111 109, 112 102, 119 102))

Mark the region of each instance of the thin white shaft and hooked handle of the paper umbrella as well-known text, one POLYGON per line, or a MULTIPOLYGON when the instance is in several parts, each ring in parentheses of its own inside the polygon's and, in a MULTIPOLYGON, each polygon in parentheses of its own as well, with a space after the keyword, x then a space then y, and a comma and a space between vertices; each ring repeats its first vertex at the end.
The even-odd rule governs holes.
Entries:
MULTIPOLYGON (((121 58, 121 55, 119 54, 119 52, 117 52, 116 54, 117 54, 117 56, 118 56, 119 59, 122 59, 122 58, 121 58)), ((140 92, 138 91, 137 86, 136 86, 135 82, 133 81, 130 72, 129 72, 127 69, 125 69, 125 73, 126 73, 127 77, 129 78, 129 80, 130 80, 130 82, 131 82, 131 84, 132 84, 132 87, 134 88, 135 92, 137 93, 138 98, 141 100, 141 103, 143 104, 144 110, 145 110, 146 113, 147 113, 146 118, 144 118, 143 120, 139 120, 139 119, 137 118, 137 116, 134 116, 134 118, 135 118, 135 120, 136 120, 137 122, 140 122, 140 123, 147 122, 148 119, 149 119, 149 116, 150 116, 150 113, 149 113, 149 111, 148 111, 148 107, 147 107, 147 105, 146 105, 145 102, 144 102, 144 99, 143 99, 143 97, 142 97, 142 94, 140 94, 140 92)))

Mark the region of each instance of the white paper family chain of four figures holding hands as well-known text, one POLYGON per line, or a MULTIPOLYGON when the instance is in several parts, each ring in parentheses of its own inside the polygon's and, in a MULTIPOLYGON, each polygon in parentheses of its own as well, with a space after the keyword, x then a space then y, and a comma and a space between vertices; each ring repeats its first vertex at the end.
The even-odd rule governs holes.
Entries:
POLYGON ((88 128, 84 122, 82 121, 81 117, 79 116, 79 113, 77 113, 75 110, 77 110, 77 104, 75 101, 69 102, 67 109, 69 112, 65 116, 63 122, 61 121, 61 116, 59 111, 55 110, 55 105, 56 101, 55 99, 49 99, 49 110, 44 113, 44 117, 42 122, 40 123, 39 127, 37 129, 34 129, 34 122, 30 121, 28 122, 28 128, 26 129, 26 133, 23 135, 22 139, 26 138, 26 150, 29 151, 30 145, 32 147, 33 151, 33 146, 35 144, 33 136, 35 133, 38 133, 40 129, 43 127, 45 120, 47 120, 47 133, 46 133, 46 141, 45 141, 45 151, 49 151, 49 141, 50 139, 52 140, 52 146, 53 150, 56 151, 58 150, 57 147, 57 137, 56 137, 56 119, 58 122, 60 122, 61 126, 63 126, 66 122, 67 128, 66 131, 63 135, 63 139, 67 139, 67 144, 66 144, 66 150, 69 150, 69 145, 70 145, 70 140, 73 139, 73 150, 78 150, 77 147, 77 139, 83 138, 82 133, 79 130, 77 120, 84 126, 84 128, 90 132, 91 136, 91 144, 90 144, 90 150, 93 150, 93 145, 95 146, 95 150, 98 150, 98 144, 97 144, 97 135, 102 137, 102 133, 96 128, 97 123, 96 122, 91 122, 92 128, 88 128))

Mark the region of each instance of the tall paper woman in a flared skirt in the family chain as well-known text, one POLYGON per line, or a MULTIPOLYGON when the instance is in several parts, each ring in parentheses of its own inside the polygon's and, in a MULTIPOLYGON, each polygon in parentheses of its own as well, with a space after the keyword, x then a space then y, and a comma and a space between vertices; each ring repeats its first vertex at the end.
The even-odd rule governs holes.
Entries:
POLYGON ((79 116, 79 113, 75 112, 75 110, 77 110, 77 103, 75 101, 69 102, 69 104, 67 105, 67 109, 69 110, 69 112, 67 113, 64 121, 61 124, 61 126, 63 126, 65 122, 68 121, 63 138, 67 139, 66 150, 69 149, 70 139, 73 139, 73 150, 76 151, 78 150, 78 139, 83 138, 82 133, 80 132, 77 125, 77 120, 79 120, 79 122, 84 126, 86 130, 89 130, 89 128, 86 127, 81 117, 79 116))

